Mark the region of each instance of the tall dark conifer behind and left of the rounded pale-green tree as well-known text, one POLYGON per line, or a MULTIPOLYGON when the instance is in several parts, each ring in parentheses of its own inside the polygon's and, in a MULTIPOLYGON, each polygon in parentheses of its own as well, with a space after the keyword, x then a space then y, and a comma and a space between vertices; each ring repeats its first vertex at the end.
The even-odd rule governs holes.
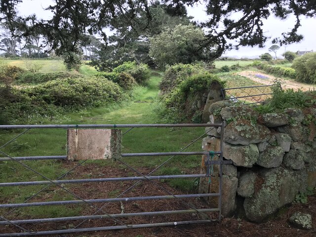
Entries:
POLYGON ((97 58, 93 58, 89 64, 101 71, 111 71, 125 61, 136 61, 138 64, 145 63, 154 67, 155 64, 149 56, 149 38, 158 35, 165 28, 192 24, 190 22, 192 18, 187 16, 185 7, 182 9, 181 16, 168 13, 170 8, 160 4, 159 1, 150 5, 148 10, 152 20, 148 21, 146 11, 142 11, 135 19, 138 28, 129 27, 123 18, 119 20, 119 24, 115 26, 115 34, 108 39, 107 47, 99 45, 97 58))

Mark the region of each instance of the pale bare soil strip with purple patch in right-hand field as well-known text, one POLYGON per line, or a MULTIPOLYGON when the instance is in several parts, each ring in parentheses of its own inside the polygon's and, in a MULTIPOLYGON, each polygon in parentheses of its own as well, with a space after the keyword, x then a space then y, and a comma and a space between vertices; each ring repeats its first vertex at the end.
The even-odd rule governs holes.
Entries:
MULTIPOLYGON (((276 77, 274 76, 260 73, 260 72, 255 72, 255 71, 243 71, 237 74, 240 76, 244 76, 246 78, 252 79, 253 81, 265 84, 265 85, 274 84, 274 81, 276 80, 276 77)), ((294 80, 281 80, 281 85, 283 89, 294 89, 294 90, 300 89, 303 91, 316 89, 316 85, 304 84, 304 83, 300 83, 294 80)))

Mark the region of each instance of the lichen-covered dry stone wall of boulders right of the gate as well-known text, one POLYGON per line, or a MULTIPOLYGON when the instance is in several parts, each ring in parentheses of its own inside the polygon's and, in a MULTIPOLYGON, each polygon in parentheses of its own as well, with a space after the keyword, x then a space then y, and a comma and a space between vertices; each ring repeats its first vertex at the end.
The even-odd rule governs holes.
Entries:
MULTIPOLYGON (((223 157, 233 162, 223 165, 223 215, 242 209, 249 220, 261 222, 316 186, 315 108, 259 115, 249 106, 220 101, 209 114, 209 123, 224 121, 223 157)), ((220 129, 207 134, 202 149, 218 151, 220 129)), ((202 162, 201 172, 205 169, 202 162)), ((200 180, 200 193, 218 192, 218 173, 215 165, 212 182, 200 180)), ((208 202, 216 207, 218 198, 208 202)))

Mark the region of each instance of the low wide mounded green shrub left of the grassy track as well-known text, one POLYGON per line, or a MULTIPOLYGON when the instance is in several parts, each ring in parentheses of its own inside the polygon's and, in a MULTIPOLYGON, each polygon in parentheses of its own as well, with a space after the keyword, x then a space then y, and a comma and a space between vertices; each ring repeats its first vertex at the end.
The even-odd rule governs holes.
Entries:
POLYGON ((122 98, 120 87, 112 81, 100 78, 67 78, 51 80, 34 87, 21 89, 36 104, 55 106, 98 106, 122 98))

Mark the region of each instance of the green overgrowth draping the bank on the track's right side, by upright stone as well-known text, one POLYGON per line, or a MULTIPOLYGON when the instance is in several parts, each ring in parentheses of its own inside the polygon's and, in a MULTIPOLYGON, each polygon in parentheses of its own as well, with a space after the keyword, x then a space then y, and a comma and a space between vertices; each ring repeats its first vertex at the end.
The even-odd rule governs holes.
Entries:
POLYGON ((160 117, 168 122, 192 118, 199 122, 200 111, 191 110, 192 103, 208 93, 211 86, 224 87, 225 82, 200 65, 177 64, 169 67, 160 83, 160 117))

